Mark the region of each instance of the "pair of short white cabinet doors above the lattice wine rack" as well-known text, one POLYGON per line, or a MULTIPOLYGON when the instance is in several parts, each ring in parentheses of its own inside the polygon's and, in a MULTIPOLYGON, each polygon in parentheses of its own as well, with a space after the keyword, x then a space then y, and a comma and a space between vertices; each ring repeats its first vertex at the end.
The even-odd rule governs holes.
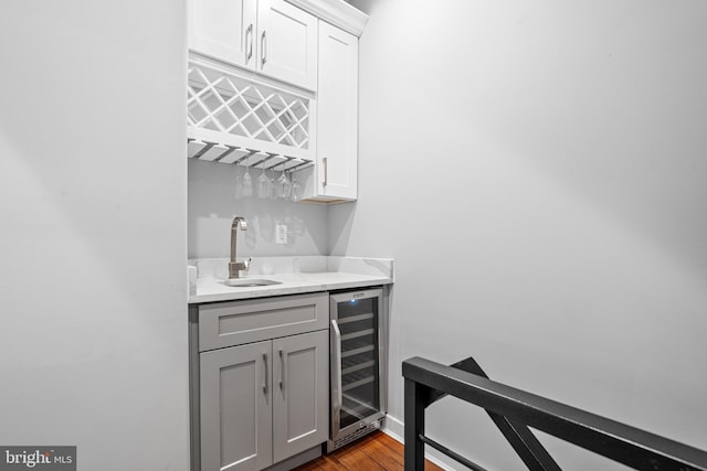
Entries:
POLYGON ((190 0, 189 49, 310 90, 317 25, 285 0, 190 0))

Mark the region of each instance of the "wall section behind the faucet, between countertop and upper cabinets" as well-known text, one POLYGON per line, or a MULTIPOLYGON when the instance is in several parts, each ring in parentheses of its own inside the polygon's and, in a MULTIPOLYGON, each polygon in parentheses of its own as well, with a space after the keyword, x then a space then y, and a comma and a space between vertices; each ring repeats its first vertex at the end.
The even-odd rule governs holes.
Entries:
MULTIPOLYGON (((238 191, 243 167, 189 160, 189 258, 230 256, 231 222, 243 216, 247 231, 238 235, 238 257, 327 255, 327 207, 286 200, 261 200, 255 186, 261 169, 249 170, 253 195, 238 191), (275 224, 287 226, 287 243, 275 243, 275 224)), ((273 178, 272 172, 266 172, 273 178)), ((279 173, 275 172, 275 179, 279 173)))

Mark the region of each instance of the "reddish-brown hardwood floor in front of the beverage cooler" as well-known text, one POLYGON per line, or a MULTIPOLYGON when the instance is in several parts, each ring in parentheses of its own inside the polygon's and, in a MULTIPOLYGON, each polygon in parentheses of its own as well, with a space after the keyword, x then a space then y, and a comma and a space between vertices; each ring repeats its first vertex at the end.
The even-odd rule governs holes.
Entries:
MULTIPOLYGON (((443 471, 436 464, 425 461, 426 471, 443 471)), ((325 454, 296 471, 381 471, 404 470, 403 446, 382 431, 376 431, 330 454, 325 454)))

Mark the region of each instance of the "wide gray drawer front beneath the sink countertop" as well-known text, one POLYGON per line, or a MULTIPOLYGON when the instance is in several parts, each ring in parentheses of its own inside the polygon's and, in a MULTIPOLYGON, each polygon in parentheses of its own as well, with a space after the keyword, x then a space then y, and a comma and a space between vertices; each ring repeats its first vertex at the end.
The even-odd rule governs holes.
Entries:
POLYGON ((199 351, 327 329, 326 292, 199 307, 199 351))

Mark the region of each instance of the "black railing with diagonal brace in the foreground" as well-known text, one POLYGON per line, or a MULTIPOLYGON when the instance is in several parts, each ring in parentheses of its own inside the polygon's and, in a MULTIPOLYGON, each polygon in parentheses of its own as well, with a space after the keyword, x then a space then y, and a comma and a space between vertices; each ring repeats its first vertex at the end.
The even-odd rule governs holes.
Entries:
POLYGON ((446 395, 486 410, 531 471, 557 471, 528 427, 636 470, 707 471, 707 452, 684 443, 488 379, 474 358, 446 366, 413 357, 402 364, 405 382, 405 470, 424 469, 429 445, 475 471, 484 468, 424 435, 425 408, 446 395))

